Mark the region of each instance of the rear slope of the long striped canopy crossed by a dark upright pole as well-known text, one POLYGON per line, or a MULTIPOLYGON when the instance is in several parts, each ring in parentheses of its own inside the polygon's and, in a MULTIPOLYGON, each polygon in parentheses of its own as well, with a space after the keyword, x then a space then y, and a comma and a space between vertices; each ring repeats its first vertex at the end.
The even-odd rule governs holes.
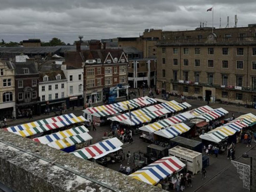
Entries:
MULTIPOLYGON (((137 116, 140 116, 140 115, 143 115, 143 114, 146 114, 146 113, 151 113, 153 111, 157 111, 157 110, 163 109, 163 108, 168 108, 170 106, 177 105, 177 104, 179 104, 179 103, 173 100, 173 101, 168 101, 168 102, 165 102, 165 103, 160 103, 160 104, 157 104, 157 105, 148 106, 148 107, 143 108, 143 109, 138 109, 136 111, 132 111, 131 116, 132 117, 137 117, 137 116)), ((108 118, 108 120, 111 120, 111 121, 123 121, 123 120, 126 120, 126 119, 130 119, 129 112, 118 115, 118 116, 115 116, 115 117, 108 118)))

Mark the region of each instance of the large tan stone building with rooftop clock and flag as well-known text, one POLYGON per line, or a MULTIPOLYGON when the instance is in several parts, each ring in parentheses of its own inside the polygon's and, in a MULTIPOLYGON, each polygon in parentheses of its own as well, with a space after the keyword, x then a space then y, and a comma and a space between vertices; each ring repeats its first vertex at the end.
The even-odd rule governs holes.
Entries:
POLYGON ((256 102, 256 27, 163 31, 157 87, 205 100, 256 102))

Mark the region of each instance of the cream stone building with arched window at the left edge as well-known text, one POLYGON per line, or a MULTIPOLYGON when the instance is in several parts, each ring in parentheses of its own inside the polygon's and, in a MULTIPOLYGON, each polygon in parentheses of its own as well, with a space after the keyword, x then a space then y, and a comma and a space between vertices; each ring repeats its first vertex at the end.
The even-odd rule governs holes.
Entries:
POLYGON ((15 69, 11 62, 0 61, 0 119, 15 113, 15 69))

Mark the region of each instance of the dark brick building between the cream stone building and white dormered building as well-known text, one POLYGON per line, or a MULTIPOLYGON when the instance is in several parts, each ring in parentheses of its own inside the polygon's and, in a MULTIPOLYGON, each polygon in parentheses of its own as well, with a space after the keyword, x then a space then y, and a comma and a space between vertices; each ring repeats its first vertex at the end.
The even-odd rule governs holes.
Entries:
POLYGON ((39 73, 34 62, 14 62, 16 118, 25 117, 27 111, 40 114, 38 96, 39 73))

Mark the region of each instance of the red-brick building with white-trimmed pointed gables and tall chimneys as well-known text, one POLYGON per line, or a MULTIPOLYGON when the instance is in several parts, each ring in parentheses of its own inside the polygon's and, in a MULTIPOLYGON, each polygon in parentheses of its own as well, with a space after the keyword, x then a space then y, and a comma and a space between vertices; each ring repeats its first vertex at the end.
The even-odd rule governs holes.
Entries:
POLYGON ((77 44, 76 52, 66 52, 66 65, 84 70, 84 95, 86 102, 102 101, 104 95, 117 91, 117 98, 128 94, 128 60, 122 49, 105 49, 105 44, 90 42, 90 50, 81 51, 77 44), (122 84, 122 88, 117 88, 122 84))

